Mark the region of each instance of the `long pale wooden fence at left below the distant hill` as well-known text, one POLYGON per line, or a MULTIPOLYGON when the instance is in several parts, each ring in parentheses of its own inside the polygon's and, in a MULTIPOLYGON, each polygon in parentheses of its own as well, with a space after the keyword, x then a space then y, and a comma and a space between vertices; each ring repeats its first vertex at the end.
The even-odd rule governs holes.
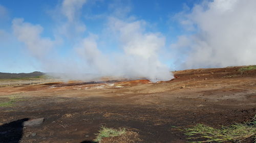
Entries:
POLYGON ((0 81, 0 86, 28 85, 28 84, 62 82, 62 81, 64 80, 63 79, 11 80, 11 81, 0 81))

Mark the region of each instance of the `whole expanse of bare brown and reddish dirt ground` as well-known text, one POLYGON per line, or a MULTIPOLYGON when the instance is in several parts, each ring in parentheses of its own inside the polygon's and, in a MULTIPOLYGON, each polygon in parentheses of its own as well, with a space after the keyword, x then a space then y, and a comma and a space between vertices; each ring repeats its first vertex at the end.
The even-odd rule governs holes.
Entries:
MULTIPOLYGON (((70 82, 1 87, 0 142, 91 142, 100 126, 137 132, 138 142, 191 141, 177 128, 249 121, 256 114, 256 70, 175 71, 175 79, 70 82), (45 118, 38 127, 28 119, 45 118)), ((244 142, 252 142, 251 139, 244 142)))

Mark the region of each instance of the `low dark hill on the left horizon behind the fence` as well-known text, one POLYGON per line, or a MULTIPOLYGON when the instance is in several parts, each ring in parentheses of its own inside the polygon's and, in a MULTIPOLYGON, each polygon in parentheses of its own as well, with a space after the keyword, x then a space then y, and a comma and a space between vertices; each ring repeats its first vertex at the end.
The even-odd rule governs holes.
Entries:
POLYGON ((3 73, 0 72, 0 79, 8 79, 8 78, 35 78, 38 76, 45 75, 42 72, 31 72, 31 73, 3 73))

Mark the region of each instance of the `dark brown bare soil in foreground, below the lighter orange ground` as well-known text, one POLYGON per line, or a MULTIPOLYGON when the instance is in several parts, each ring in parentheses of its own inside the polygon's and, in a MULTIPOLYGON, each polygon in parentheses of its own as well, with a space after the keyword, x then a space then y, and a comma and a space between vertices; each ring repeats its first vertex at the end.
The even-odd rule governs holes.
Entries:
MULTIPOLYGON (((177 128, 194 126, 197 123, 211 127, 241 123, 248 121, 256 113, 255 108, 229 107, 218 111, 215 105, 210 105, 209 109, 191 108, 189 110, 185 106, 176 108, 175 106, 135 105, 130 99, 123 101, 117 100, 116 97, 49 97, 30 100, 33 99, 36 100, 36 105, 13 107, 9 112, 3 112, 5 110, 3 108, 0 116, 1 123, 24 117, 45 118, 42 126, 24 129, 21 140, 25 142, 90 141, 95 138, 95 133, 98 133, 102 125, 133 129, 142 139, 137 142, 186 142, 186 136, 177 128), (47 101, 50 102, 47 103, 47 101), (32 133, 36 135, 31 136, 32 133)), ((176 101, 169 101, 169 105, 175 105, 174 102, 176 101)), ((184 105, 188 103, 189 101, 184 102, 184 105)))

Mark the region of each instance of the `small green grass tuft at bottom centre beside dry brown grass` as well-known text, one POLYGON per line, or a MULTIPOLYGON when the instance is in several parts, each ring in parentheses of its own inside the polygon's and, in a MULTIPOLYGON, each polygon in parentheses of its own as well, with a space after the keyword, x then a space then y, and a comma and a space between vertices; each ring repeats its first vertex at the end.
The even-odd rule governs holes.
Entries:
POLYGON ((105 126, 102 126, 100 127, 99 133, 96 134, 97 136, 93 141, 100 143, 103 137, 114 137, 114 136, 119 136, 125 133, 126 133, 125 128, 114 129, 114 128, 107 128, 105 126))

